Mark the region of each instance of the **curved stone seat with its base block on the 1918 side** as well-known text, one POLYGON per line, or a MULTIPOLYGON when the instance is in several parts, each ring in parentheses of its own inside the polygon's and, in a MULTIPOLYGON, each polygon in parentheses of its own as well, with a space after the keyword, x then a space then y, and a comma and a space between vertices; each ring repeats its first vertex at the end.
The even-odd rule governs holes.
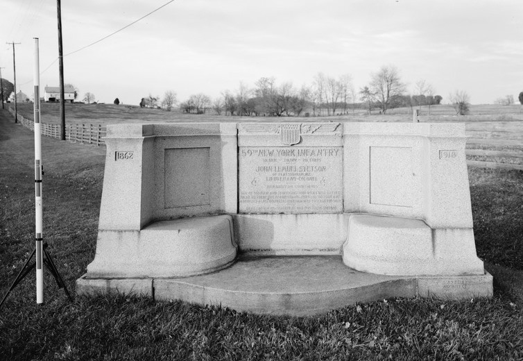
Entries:
POLYGON ((472 229, 432 229, 424 221, 351 215, 343 262, 372 274, 484 274, 472 229))

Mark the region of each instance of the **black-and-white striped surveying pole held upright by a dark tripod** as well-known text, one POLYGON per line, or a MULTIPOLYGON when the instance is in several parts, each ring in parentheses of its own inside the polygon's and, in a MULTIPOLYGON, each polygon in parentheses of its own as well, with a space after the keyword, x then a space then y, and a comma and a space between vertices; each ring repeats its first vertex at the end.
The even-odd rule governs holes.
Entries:
POLYGON ((44 249, 42 244, 43 206, 42 206, 42 133, 40 130, 40 61, 38 38, 35 37, 35 232, 36 232, 36 303, 44 303, 44 249))

